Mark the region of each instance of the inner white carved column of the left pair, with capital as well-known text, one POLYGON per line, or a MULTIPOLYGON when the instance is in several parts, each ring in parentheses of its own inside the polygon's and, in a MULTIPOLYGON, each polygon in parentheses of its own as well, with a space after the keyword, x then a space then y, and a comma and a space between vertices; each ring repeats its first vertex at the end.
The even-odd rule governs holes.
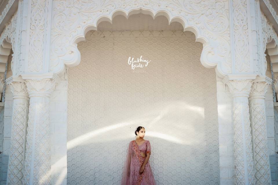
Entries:
POLYGON ((53 74, 22 76, 30 97, 24 184, 51 184, 49 100, 55 80, 53 74))

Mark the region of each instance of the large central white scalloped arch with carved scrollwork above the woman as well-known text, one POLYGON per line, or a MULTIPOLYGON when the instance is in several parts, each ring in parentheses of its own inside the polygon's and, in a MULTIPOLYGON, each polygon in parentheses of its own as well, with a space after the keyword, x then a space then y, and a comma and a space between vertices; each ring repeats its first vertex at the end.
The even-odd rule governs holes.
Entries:
POLYGON ((169 24, 179 22, 203 43, 201 63, 215 68, 218 75, 232 72, 228 0, 225 1, 53 1, 49 71, 59 74, 65 66, 77 66, 81 55, 77 43, 102 21, 112 22, 117 15, 163 15, 169 24))

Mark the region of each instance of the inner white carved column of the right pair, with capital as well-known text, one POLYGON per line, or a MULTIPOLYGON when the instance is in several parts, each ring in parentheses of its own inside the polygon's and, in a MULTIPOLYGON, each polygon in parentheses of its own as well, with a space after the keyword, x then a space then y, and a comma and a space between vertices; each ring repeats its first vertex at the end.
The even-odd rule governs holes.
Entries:
POLYGON ((255 172, 248 105, 252 79, 237 80, 227 76, 223 82, 233 95, 235 184, 253 185, 255 172))

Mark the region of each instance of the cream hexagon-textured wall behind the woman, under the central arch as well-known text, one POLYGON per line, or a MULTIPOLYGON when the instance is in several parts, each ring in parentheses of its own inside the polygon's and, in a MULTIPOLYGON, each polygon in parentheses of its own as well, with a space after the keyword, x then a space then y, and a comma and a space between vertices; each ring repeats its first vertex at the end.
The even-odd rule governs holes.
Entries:
POLYGON ((67 184, 119 184, 134 130, 158 184, 219 184, 216 75, 189 32, 91 31, 68 70, 67 184), (151 60, 134 72, 129 56, 151 60))

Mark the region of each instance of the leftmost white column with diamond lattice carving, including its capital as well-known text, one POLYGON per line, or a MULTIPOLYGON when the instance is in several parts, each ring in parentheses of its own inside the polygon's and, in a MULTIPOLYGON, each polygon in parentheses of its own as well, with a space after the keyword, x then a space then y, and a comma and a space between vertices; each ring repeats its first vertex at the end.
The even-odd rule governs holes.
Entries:
POLYGON ((22 79, 10 77, 6 80, 13 94, 12 129, 7 184, 23 184, 26 127, 28 115, 28 93, 22 79))

